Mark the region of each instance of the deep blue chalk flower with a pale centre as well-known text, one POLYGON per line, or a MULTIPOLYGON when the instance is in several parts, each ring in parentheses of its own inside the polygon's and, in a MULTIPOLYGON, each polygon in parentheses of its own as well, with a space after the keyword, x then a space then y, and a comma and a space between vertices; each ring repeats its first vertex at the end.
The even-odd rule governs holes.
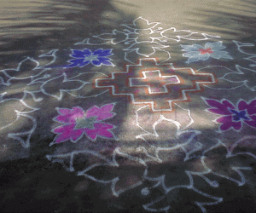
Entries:
POLYGON ((70 56, 75 59, 68 60, 67 62, 71 64, 65 67, 83 67, 89 64, 92 64, 94 66, 113 66, 113 63, 109 61, 111 59, 107 57, 109 55, 113 55, 111 53, 112 49, 96 49, 95 51, 91 51, 90 49, 72 49, 72 51, 73 54, 70 56))

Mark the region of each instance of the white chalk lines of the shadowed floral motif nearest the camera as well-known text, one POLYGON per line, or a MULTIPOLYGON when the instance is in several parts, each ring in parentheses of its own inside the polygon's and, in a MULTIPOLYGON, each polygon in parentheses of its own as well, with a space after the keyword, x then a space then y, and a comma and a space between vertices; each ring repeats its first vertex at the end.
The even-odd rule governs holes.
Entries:
MULTIPOLYGON (((249 137, 246 137, 245 139, 256 139, 256 136, 252 135, 252 136, 249 136, 249 137)), ((243 139, 244 140, 244 139, 243 139)), ((252 153, 236 153, 236 154, 232 154, 233 152, 233 149, 236 147, 237 144, 239 144, 239 142, 243 141, 243 140, 240 140, 240 141, 237 141, 230 149, 230 151, 228 151, 228 153, 226 154, 226 158, 230 158, 232 156, 236 156, 238 154, 247 154, 249 156, 252 156, 253 158, 256 158, 255 155, 253 155, 252 153)), ((190 140, 192 141, 192 140, 190 140)), ((184 145, 184 144, 183 144, 184 145)), ((219 197, 215 197, 215 196, 212 196, 208 193, 204 193, 202 192, 201 190, 197 189, 195 187, 195 183, 194 183, 194 179, 193 179, 193 176, 200 176, 204 181, 207 181, 207 183, 211 186, 211 187, 219 187, 219 184, 218 184, 218 181, 211 181, 209 180, 206 175, 208 174, 213 174, 214 176, 218 176, 218 177, 221 177, 221 178, 225 178, 229 181, 234 181, 238 186, 243 186, 245 183, 246 183, 246 180, 245 180, 245 176, 242 174, 241 170, 251 170, 250 167, 231 167, 232 170, 235 170, 236 173, 241 177, 241 181, 239 180, 236 180, 236 179, 233 179, 229 176, 223 176, 221 174, 218 174, 216 172, 213 172, 208 166, 207 164, 205 163, 205 159, 207 158, 205 156, 205 154, 207 152, 209 152, 210 150, 212 150, 213 148, 216 148, 216 147, 219 147, 219 146, 224 146, 226 147, 220 140, 218 140, 218 142, 208 148, 206 151, 203 152, 203 156, 201 156, 201 164, 203 165, 204 167, 204 171, 202 172, 193 172, 193 171, 189 171, 189 170, 185 170, 185 174, 189 177, 189 184, 186 184, 186 185, 177 185, 177 186, 172 186, 172 187, 166 187, 166 184, 165 184, 165 179, 166 179, 166 175, 162 175, 162 176, 158 176, 158 177, 150 177, 148 176, 148 164, 147 162, 148 161, 156 161, 156 162, 159 162, 161 163, 161 160, 160 158, 154 158, 150 155, 148 155, 148 152, 146 150, 145 147, 138 147, 137 150, 138 151, 143 151, 143 153, 146 154, 147 157, 149 157, 148 160, 143 160, 142 158, 137 158, 137 157, 133 157, 131 156, 130 154, 127 154, 127 153, 122 153, 120 151, 120 148, 117 147, 114 151, 113 151, 113 154, 110 158, 106 158, 104 157, 102 154, 100 153, 96 153, 95 151, 90 151, 90 150, 84 150, 84 151, 73 151, 72 153, 66 153, 66 154, 54 154, 54 155, 47 155, 46 158, 48 158, 50 161, 52 161, 53 163, 55 162, 59 162, 63 165, 63 167, 66 169, 66 170, 69 170, 69 171, 75 171, 74 167, 73 167, 73 159, 74 159, 74 156, 76 154, 79 154, 79 153, 84 153, 84 154, 92 154, 94 155, 95 157, 99 158, 99 159, 102 159, 104 162, 106 163, 96 163, 96 164, 92 164, 92 165, 89 165, 85 170, 79 170, 78 172, 78 176, 85 176, 86 178, 89 178, 90 180, 92 181, 96 181, 96 182, 100 182, 100 183, 103 183, 103 184, 111 184, 111 190, 112 190, 112 193, 114 196, 116 197, 119 197, 119 194, 121 193, 125 193, 126 191, 132 189, 132 188, 135 188, 135 187, 139 187, 143 184, 143 181, 147 180, 147 181, 154 181, 156 182, 152 187, 144 187, 141 191, 141 193, 144 195, 144 196, 147 196, 148 193, 150 193, 150 189, 154 188, 154 187, 162 187, 163 190, 164 190, 164 194, 163 196, 161 196, 160 198, 156 198, 154 199, 153 201, 151 201, 150 203, 148 204, 143 204, 143 208, 145 210, 149 210, 149 211, 162 211, 162 210, 169 210, 172 205, 169 204, 165 207, 162 207, 162 208, 159 208, 159 209, 154 209, 154 208, 150 208, 151 205, 157 203, 157 202, 160 202, 160 200, 162 199, 165 199, 166 197, 166 194, 167 193, 171 193, 172 190, 176 189, 176 188, 186 188, 186 189, 189 189, 189 190, 192 190, 194 191, 195 193, 199 193, 201 194, 202 196, 208 198, 208 199, 212 199, 214 201, 212 202, 199 202, 199 201, 195 201, 195 204, 201 209, 202 212, 206 213, 207 210, 205 208, 205 206, 207 205, 213 205, 213 204, 219 204, 221 203, 224 199, 223 198, 219 198, 219 197), (89 170, 93 169, 93 168, 96 168, 97 166, 115 166, 115 167, 118 167, 119 164, 116 162, 116 155, 119 154, 120 156, 123 156, 125 158, 129 158, 131 160, 134 160, 136 162, 138 162, 139 164, 143 164, 145 166, 145 170, 144 170, 144 173, 143 173, 143 181, 138 181, 136 184, 133 184, 129 187, 125 187, 125 188, 122 188, 120 189, 119 191, 116 191, 115 190, 115 187, 116 187, 116 184, 117 182, 119 181, 119 177, 115 177, 113 178, 112 180, 101 180, 101 179, 97 179, 96 177, 94 176, 90 176, 88 174, 86 174, 86 172, 88 172, 89 170), (53 159, 55 158, 55 159, 53 159), (62 159, 61 159, 62 158, 62 159), (64 164, 64 160, 65 158, 69 158, 68 160, 68 164, 69 166, 66 166, 64 164)), ((175 147, 175 148, 180 148, 180 147, 175 147)), ((173 148, 172 148, 173 150, 173 148)), ((186 160, 184 159, 184 162, 186 160)))

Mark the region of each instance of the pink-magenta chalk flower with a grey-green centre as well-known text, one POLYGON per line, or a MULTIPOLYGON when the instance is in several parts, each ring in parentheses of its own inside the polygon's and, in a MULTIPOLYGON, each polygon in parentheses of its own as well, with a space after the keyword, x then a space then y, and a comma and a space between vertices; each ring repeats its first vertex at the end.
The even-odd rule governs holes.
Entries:
POLYGON ((86 112, 81 107, 72 109, 57 108, 60 115, 54 118, 55 121, 64 124, 52 132, 58 134, 49 146, 64 141, 77 142, 86 135, 91 141, 96 141, 97 136, 103 138, 113 138, 112 124, 103 123, 103 120, 113 118, 112 112, 114 104, 107 104, 102 107, 90 107, 86 112))

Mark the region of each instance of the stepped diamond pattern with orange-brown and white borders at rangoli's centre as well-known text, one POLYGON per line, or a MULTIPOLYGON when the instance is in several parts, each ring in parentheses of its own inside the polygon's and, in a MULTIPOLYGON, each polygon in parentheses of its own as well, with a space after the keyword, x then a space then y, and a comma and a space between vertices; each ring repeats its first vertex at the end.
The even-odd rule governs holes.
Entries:
POLYGON ((148 105, 152 112, 172 111, 173 104, 190 101, 189 93, 201 92, 202 85, 217 83, 211 73, 159 64, 155 58, 140 59, 126 65, 125 72, 113 72, 108 78, 96 78, 94 87, 109 89, 113 96, 128 96, 132 104, 148 105))

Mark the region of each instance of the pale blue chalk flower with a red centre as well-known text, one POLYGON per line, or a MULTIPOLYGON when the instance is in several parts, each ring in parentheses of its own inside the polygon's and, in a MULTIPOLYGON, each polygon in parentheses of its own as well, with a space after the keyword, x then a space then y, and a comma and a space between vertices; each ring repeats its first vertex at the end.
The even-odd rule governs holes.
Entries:
POLYGON ((204 47, 199 44, 181 45, 181 47, 183 48, 182 51, 186 52, 183 56, 189 58, 186 61, 187 64, 198 60, 207 60, 210 57, 213 59, 233 59, 228 52, 221 50, 225 49, 222 42, 206 43, 204 47))

